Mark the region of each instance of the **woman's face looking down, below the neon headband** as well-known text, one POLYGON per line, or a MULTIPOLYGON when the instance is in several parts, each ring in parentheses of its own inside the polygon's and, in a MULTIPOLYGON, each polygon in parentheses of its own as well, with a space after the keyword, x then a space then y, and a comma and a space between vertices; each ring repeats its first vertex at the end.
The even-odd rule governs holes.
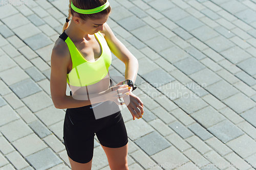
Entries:
POLYGON ((81 29, 90 34, 93 35, 99 31, 103 30, 103 24, 108 20, 109 15, 102 15, 99 19, 87 19, 86 21, 81 22, 81 29))

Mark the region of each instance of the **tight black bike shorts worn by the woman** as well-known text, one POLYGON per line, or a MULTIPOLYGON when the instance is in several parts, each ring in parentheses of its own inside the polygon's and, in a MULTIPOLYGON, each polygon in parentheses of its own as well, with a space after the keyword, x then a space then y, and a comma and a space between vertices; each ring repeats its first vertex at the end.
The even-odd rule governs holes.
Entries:
MULTIPOLYGON (((113 86, 112 81, 111 86, 113 86)), ((66 110, 63 139, 68 156, 75 162, 88 163, 92 160, 95 134, 104 147, 120 148, 128 142, 118 105, 115 102, 106 101, 99 106, 94 104, 66 110), (103 112, 119 111, 96 119, 94 112, 99 106, 106 108, 103 112)))

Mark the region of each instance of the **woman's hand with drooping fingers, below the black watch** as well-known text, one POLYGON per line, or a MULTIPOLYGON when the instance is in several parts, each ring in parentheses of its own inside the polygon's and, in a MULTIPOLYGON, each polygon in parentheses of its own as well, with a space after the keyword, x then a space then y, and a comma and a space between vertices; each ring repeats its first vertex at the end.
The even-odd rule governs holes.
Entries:
POLYGON ((130 110, 131 114, 133 115, 133 120, 135 120, 135 117, 139 119, 142 117, 144 113, 143 103, 138 96, 133 94, 131 89, 129 90, 129 93, 130 95, 123 97, 123 101, 127 108, 130 110))

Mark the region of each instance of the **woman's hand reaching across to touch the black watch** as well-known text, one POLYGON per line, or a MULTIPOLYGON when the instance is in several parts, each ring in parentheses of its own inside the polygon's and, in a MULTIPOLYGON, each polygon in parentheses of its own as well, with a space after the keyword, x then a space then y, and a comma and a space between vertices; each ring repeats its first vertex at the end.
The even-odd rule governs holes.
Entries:
POLYGON ((104 95, 105 99, 108 101, 113 101, 117 105, 123 105, 124 103, 119 102, 118 98, 123 98, 124 96, 129 95, 129 87, 128 85, 115 85, 110 87, 108 90, 105 90, 102 94, 104 95), (122 94, 119 94, 122 93, 122 94))

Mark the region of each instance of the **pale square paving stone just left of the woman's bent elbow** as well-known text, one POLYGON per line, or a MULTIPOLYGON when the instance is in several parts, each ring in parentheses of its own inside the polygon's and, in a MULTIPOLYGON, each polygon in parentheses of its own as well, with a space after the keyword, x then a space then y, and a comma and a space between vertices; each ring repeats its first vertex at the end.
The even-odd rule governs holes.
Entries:
POLYGON ((22 101, 32 110, 32 112, 53 105, 52 99, 44 91, 29 95, 26 98, 23 98, 22 101))

